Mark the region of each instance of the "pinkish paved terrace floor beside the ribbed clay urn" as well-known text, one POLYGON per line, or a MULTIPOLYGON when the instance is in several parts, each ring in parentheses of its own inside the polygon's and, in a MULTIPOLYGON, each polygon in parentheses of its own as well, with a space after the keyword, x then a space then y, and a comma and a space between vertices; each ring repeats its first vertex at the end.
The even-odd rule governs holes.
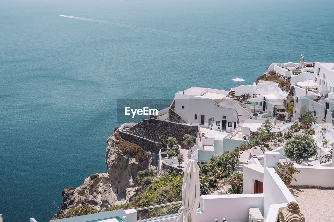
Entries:
POLYGON ((334 189, 290 187, 307 222, 334 221, 334 189))

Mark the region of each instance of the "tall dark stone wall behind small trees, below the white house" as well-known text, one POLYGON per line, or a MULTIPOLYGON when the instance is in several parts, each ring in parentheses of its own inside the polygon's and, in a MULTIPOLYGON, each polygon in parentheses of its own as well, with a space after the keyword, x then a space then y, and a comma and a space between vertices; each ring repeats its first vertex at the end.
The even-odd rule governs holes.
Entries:
POLYGON ((183 146, 183 136, 185 134, 190 134, 193 137, 197 137, 198 126, 188 126, 158 119, 143 119, 142 122, 128 129, 127 133, 131 133, 133 135, 140 136, 158 143, 160 142, 159 136, 161 135, 165 135, 166 137, 174 137, 179 145, 183 146))

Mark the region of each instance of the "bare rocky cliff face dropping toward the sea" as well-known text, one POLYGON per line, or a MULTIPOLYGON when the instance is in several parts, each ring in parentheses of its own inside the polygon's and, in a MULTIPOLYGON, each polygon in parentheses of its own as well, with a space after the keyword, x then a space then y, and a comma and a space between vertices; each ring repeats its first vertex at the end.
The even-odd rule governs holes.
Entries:
POLYGON ((64 189, 61 210, 81 204, 104 210, 114 204, 127 203, 137 194, 138 189, 134 186, 138 171, 156 169, 158 154, 147 152, 147 160, 137 162, 134 157, 123 154, 115 141, 114 135, 107 140, 105 161, 108 173, 95 174, 77 188, 64 189))

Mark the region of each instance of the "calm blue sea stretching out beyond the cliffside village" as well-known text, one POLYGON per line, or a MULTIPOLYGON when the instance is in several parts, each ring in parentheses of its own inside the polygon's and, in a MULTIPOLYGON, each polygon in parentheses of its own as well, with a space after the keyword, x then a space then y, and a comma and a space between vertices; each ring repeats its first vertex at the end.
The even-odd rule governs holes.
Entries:
POLYGON ((333 9, 331 0, 1 1, 4 221, 48 221, 64 188, 107 172, 116 99, 228 90, 300 54, 333 62, 333 9))

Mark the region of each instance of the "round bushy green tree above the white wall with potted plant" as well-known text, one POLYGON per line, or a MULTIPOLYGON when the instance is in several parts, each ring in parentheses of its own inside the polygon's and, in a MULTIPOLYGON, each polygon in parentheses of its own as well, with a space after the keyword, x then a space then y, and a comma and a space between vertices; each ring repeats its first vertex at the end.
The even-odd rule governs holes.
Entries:
POLYGON ((318 153, 318 147, 313 137, 306 134, 293 136, 285 143, 283 149, 285 156, 291 160, 295 160, 298 164, 318 153))

